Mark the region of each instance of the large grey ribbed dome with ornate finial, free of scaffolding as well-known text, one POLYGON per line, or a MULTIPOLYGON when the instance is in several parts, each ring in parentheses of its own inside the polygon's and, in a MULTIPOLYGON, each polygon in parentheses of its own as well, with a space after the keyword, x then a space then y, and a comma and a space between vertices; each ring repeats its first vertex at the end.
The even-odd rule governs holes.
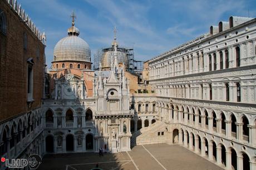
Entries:
POLYGON ((54 48, 53 61, 91 62, 91 50, 86 41, 78 37, 80 31, 75 27, 75 19, 67 30, 68 36, 62 38, 54 48))

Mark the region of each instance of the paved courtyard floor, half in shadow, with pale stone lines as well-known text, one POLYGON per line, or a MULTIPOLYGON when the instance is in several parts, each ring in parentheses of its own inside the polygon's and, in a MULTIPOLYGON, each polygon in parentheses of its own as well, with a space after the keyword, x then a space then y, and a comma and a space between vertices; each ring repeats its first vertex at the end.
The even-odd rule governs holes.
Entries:
POLYGON ((43 157, 40 169, 82 170, 95 168, 96 164, 102 169, 221 170, 220 167, 184 147, 164 143, 136 146, 130 152, 106 153, 103 157, 99 157, 97 153, 47 155, 43 157))

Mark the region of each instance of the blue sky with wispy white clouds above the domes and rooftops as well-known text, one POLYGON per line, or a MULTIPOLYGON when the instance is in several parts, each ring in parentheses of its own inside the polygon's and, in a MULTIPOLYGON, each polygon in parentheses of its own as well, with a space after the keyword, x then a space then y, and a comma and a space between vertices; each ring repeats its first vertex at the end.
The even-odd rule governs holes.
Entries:
POLYGON ((134 47, 135 59, 146 61, 209 32, 230 16, 256 17, 255 0, 18 0, 47 36, 46 62, 51 66, 55 44, 67 36, 75 11, 80 37, 93 54, 109 47, 113 29, 122 47, 134 47))

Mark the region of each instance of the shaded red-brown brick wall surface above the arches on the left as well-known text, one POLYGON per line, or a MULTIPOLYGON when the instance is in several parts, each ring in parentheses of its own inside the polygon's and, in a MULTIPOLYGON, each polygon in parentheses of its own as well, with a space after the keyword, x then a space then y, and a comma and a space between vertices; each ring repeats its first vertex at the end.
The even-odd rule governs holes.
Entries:
POLYGON ((0 122, 29 112, 41 106, 44 48, 45 46, 21 22, 21 18, 9 7, 6 1, 0 1, 0 9, 7 18, 7 33, 0 32, 0 122), (27 34, 27 51, 23 49, 23 34, 27 34), (37 48, 39 57, 37 57, 37 48), (31 57, 33 66, 33 99, 31 108, 27 105, 27 59, 31 57))

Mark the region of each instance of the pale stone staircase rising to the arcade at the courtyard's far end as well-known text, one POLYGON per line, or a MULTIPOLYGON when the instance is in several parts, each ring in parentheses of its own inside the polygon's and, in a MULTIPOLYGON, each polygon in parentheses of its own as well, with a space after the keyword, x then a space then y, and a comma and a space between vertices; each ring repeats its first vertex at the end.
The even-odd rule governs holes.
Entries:
MULTIPOLYGON (((159 131, 159 129, 162 129, 163 131, 165 127, 166 125, 164 122, 157 121, 154 124, 151 124, 149 127, 141 128, 139 131, 132 134, 131 147, 140 144, 159 143, 159 140, 157 138, 153 137, 150 139, 149 136, 151 133, 154 133, 157 136, 157 131, 159 131)), ((160 141, 163 141, 163 139, 161 139, 160 141)))

